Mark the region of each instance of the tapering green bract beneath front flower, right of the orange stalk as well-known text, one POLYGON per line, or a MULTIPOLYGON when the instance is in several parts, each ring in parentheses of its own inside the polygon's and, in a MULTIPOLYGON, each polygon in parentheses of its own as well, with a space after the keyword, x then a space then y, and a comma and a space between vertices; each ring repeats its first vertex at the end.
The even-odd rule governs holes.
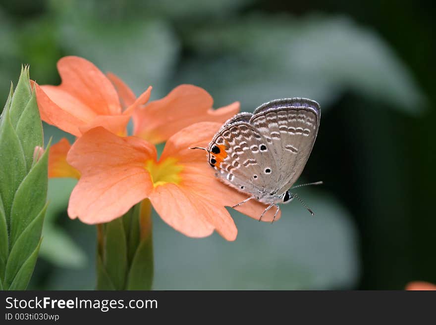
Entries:
POLYGON ((148 236, 139 244, 130 266, 126 290, 150 290, 153 284, 153 241, 148 236))

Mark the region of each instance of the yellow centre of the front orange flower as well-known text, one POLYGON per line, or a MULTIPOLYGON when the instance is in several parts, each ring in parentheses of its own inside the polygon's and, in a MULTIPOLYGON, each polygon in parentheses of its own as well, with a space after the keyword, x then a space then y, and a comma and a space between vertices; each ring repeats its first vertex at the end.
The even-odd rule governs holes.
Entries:
POLYGON ((179 184, 182 180, 180 172, 183 170, 183 166, 177 164, 175 158, 166 158, 160 162, 150 159, 146 161, 145 168, 150 172, 154 187, 166 183, 179 184))

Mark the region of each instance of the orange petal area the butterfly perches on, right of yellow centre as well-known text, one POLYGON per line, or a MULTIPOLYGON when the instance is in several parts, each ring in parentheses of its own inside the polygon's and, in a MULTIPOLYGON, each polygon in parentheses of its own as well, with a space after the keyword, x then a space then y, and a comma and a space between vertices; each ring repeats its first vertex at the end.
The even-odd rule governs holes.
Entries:
MULTIPOLYGON (((190 190, 203 199, 211 200, 221 206, 233 206, 248 198, 248 194, 223 184, 215 177, 215 171, 207 162, 207 154, 203 150, 193 150, 189 147, 207 147, 215 133, 221 127, 220 123, 201 122, 191 125, 172 136, 165 144, 161 159, 176 157, 184 166, 181 173, 184 188, 190 190)), ((267 204, 256 200, 250 200, 236 208, 239 212, 259 220, 262 212, 268 207, 267 204)), ((262 221, 272 221, 275 208, 270 209, 262 221)), ((280 219, 278 212, 275 220, 280 219)))

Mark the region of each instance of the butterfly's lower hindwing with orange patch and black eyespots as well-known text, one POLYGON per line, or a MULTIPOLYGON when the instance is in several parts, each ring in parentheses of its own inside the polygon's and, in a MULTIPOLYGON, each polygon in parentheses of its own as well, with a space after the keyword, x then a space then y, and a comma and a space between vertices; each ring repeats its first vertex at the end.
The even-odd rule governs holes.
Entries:
POLYGON ((210 163, 224 183, 262 198, 276 187, 279 168, 267 140, 248 117, 235 116, 218 131, 209 145, 210 163))

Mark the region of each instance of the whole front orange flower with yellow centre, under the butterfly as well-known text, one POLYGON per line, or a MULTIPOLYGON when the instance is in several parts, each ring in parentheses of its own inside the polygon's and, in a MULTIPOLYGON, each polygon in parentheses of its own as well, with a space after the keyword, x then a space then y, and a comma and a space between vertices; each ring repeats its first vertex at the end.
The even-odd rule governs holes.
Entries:
MULTIPOLYGON (((109 222, 149 198, 161 218, 179 232, 204 237, 216 230, 234 240, 237 229, 224 206, 248 196, 221 183, 203 151, 189 149, 206 146, 220 126, 202 122, 182 129, 168 139, 159 160, 156 148, 144 139, 117 137, 103 128, 88 131, 67 157, 81 173, 68 215, 88 224, 109 222)), ((258 219, 265 208, 252 200, 237 210, 258 219)), ((262 220, 272 221, 272 216, 270 210, 262 220)))

